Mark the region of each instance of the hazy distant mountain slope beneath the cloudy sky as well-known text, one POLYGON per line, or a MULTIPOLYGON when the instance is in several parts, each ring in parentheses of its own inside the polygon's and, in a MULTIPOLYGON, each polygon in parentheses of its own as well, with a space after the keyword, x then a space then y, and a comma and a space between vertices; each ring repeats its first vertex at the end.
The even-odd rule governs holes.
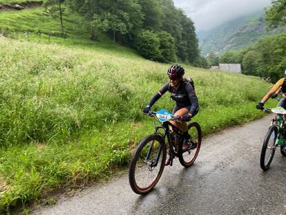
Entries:
POLYGON ((254 44, 260 37, 283 32, 283 29, 267 32, 264 12, 239 17, 227 21, 207 32, 198 32, 202 55, 209 52, 223 53, 226 50, 238 50, 254 44))

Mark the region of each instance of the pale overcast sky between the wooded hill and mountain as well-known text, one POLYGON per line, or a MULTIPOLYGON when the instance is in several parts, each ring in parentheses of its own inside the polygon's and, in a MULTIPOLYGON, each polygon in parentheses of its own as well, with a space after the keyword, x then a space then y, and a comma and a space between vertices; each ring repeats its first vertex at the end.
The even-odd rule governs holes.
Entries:
POLYGON ((263 10, 271 0, 173 0, 190 17, 197 31, 210 30, 224 21, 263 10))

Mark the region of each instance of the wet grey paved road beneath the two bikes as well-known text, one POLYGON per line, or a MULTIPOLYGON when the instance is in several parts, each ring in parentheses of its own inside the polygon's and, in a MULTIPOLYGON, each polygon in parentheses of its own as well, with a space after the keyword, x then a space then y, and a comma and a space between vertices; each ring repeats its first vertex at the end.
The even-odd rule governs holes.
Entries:
POLYGON ((278 149, 268 171, 259 164, 270 120, 203 138, 193 166, 175 160, 146 196, 133 193, 126 174, 32 214, 285 214, 286 157, 278 149))

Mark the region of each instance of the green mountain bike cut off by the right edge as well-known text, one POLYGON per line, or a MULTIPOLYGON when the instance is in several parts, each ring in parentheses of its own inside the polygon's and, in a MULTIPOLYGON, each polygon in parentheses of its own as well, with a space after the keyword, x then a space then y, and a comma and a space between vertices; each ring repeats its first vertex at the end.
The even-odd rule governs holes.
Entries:
POLYGON ((269 169, 269 166, 274 158, 276 147, 280 147, 280 153, 286 156, 286 151, 283 147, 286 144, 286 110, 281 106, 277 106, 274 109, 263 109, 265 112, 272 112, 276 114, 276 117, 271 120, 270 127, 265 135, 263 141, 263 147, 260 155, 260 167, 263 170, 269 169))

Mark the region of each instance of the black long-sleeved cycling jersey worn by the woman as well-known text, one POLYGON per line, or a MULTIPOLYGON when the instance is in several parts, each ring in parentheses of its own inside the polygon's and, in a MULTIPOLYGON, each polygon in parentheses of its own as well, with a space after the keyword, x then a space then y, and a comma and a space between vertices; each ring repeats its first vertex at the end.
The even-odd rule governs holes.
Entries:
POLYGON ((191 113, 191 115, 196 115, 196 113, 198 113, 198 97, 193 90, 193 86, 189 82, 182 82, 178 89, 171 86, 169 82, 164 84, 160 91, 152 97, 149 102, 149 106, 152 106, 158 99, 160 99, 166 91, 171 93, 172 100, 176 102, 176 105, 179 108, 191 106, 189 113, 191 113))

